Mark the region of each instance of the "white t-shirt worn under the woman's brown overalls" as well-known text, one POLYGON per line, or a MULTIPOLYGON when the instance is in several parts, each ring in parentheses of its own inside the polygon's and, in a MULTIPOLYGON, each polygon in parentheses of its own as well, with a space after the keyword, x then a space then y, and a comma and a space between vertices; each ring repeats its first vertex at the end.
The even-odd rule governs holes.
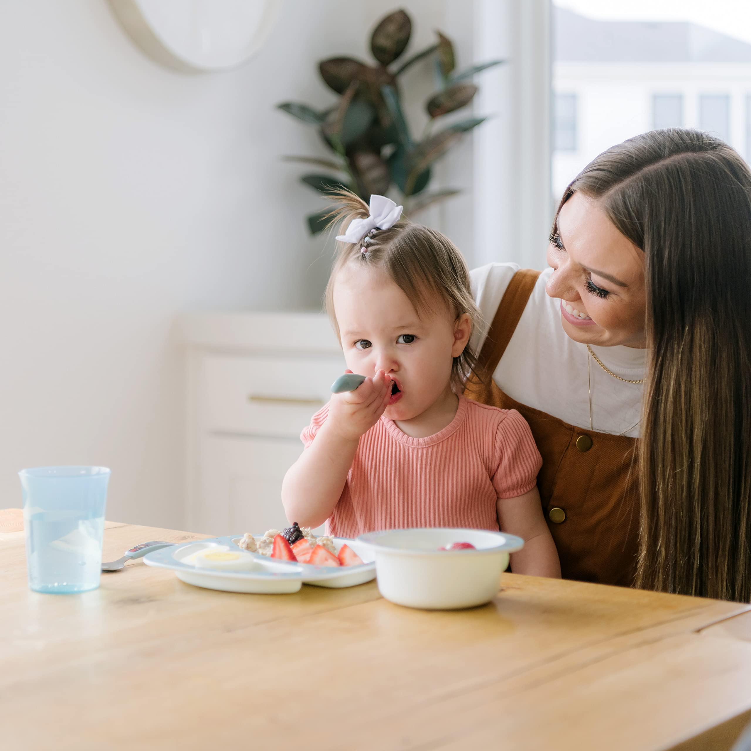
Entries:
MULTIPOLYGON (((518 268, 516 264, 488 264, 471 272, 475 301, 484 318, 472 335, 475 352, 480 351, 506 287, 518 268)), ((541 273, 493 380, 511 399, 589 430, 587 345, 566 334, 561 324, 560 300, 545 293, 552 272, 547 269, 541 273)), ((629 381, 644 378, 647 350, 624 346, 592 349, 621 378, 629 381)), ((593 430, 638 436, 643 385, 615 379, 594 359, 590 375, 593 430)))

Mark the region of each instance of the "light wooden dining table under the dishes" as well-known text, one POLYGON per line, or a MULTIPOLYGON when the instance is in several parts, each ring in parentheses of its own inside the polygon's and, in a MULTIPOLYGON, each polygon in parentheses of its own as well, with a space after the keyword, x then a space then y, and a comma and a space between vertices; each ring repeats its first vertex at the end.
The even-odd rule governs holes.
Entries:
MULTIPOLYGON (((107 523, 104 557, 202 536, 107 523)), ((426 612, 142 561, 44 595, 14 531, 0 572, 3 749, 716 751, 751 719, 748 605, 505 575, 490 605, 426 612)))

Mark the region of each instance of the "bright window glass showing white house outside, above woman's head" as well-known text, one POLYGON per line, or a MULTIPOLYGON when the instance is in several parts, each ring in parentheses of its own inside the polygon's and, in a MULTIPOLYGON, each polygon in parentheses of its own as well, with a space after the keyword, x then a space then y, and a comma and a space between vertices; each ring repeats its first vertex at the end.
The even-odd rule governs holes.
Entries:
POLYGON ((751 162, 751 3, 553 0, 551 22, 553 206, 596 155, 653 128, 710 131, 751 162))

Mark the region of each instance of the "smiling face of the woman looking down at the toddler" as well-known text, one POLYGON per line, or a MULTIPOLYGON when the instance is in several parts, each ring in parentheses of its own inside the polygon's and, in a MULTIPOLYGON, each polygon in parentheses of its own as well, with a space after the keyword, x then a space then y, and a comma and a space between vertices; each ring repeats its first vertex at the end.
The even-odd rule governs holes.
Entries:
POLYGON ((584 344, 646 346, 644 252, 581 192, 563 204, 556 227, 546 291, 561 300, 566 333, 584 344))

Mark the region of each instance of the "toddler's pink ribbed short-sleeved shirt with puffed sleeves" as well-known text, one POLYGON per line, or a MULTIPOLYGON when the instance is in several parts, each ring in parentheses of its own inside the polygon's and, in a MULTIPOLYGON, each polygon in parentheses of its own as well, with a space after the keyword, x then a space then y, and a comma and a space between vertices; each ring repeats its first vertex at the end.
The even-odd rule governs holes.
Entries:
MULTIPOLYGON (((300 438, 308 448, 328 405, 300 438)), ((460 397, 443 430, 412 438, 382 417, 360 438, 327 532, 357 537, 376 529, 454 526, 498 530, 496 502, 535 487, 542 466, 532 432, 515 409, 460 397)))

